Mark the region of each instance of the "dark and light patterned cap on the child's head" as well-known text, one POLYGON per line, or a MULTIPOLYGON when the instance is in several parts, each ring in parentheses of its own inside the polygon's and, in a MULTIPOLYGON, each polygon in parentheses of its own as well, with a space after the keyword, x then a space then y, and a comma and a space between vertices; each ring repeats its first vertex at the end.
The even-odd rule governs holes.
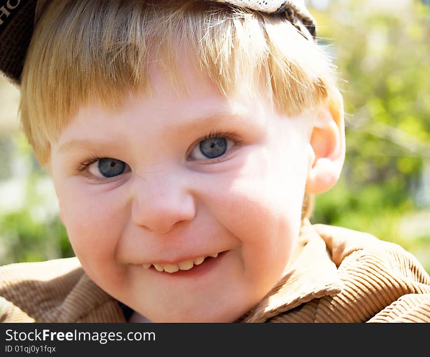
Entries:
MULTIPOLYGON (((34 26, 50 0, 0 0, 0 75, 17 86, 34 26)), ((242 8, 269 13, 284 13, 308 39, 315 39, 315 21, 303 0, 214 0, 242 8)))

